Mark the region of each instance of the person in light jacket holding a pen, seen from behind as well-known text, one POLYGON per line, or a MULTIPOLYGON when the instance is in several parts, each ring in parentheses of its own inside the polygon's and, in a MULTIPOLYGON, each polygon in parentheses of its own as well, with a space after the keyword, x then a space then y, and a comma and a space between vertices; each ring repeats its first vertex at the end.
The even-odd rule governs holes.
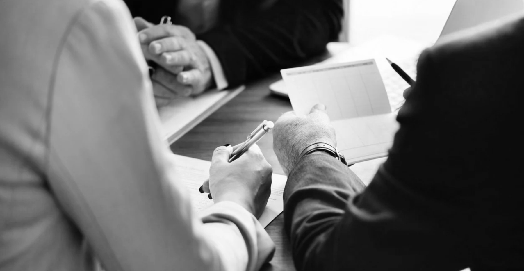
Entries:
POLYGON ((256 219, 271 167, 256 146, 231 163, 232 147, 217 148, 215 204, 195 213, 124 2, 7 1, 0 23, 0 270, 99 270, 94 257, 106 271, 257 270, 271 258, 256 219))

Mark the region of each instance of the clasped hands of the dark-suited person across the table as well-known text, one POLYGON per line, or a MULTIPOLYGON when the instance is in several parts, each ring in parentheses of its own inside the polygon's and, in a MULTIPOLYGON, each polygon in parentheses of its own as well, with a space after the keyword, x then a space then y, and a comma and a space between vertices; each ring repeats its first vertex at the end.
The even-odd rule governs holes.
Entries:
POLYGON ((135 18, 135 25, 145 58, 167 71, 152 79, 173 97, 197 95, 211 87, 209 59, 191 30, 179 25, 153 25, 140 17, 135 18))

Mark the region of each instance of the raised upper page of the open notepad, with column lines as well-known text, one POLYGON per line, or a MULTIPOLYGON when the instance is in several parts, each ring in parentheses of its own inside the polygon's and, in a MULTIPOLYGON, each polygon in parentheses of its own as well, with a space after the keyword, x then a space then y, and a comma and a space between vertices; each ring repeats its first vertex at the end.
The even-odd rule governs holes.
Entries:
POLYGON ((391 112, 375 60, 281 70, 293 110, 307 114, 323 103, 332 121, 391 112))

